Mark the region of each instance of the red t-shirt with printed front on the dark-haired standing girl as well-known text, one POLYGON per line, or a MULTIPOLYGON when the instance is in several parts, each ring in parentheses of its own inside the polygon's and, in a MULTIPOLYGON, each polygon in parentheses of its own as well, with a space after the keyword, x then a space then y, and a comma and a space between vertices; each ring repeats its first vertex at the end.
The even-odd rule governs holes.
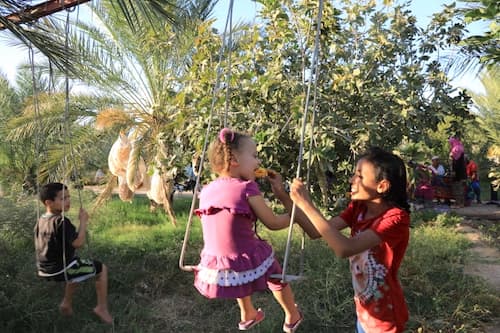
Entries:
POLYGON ((340 214, 351 236, 371 229, 382 239, 379 245, 349 258, 358 320, 366 332, 403 332, 408 308, 397 275, 410 237, 410 215, 390 208, 365 219, 365 212, 364 203, 352 201, 340 214))

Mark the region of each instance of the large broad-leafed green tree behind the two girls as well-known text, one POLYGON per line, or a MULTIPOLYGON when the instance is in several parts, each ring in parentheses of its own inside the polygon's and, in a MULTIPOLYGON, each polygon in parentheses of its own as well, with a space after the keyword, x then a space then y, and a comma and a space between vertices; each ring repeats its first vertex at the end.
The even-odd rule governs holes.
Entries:
MULTIPOLYGON (((293 177, 308 80, 316 80, 316 123, 306 133, 304 159, 310 163, 312 191, 328 206, 348 188, 356 155, 369 145, 392 150, 405 141, 427 141, 446 116, 469 118, 469 98, 453 95, 445 68, 435 59, 436 44, 451 43, 462 33, 446 16, 436 17, 426 31, 415 26, 405 5, 377 7, 374 1, 325 4, 321 23, 321 62, 310 75, 317 3, 261 1, 262 24, 241 35, 232 53, 229 99, 231 127, 252 132, 266 165, 293 177), (333 172, 328 188, 326 171, 333 172), (331 195, 331 194, 335 195, 331 195)), ((448 13, 447 15, 451 15, 448 13)), ((181 92, 181 109, 204 128, 218 58, 207 29, 198 37, 196 54, 181 92)), ((222 110, 223 94, 216 107, 222 110)), ((312 104, 311 104, 312 105, 312 104)), ((215 115, 222 124, 221 113, 215 115)), ((215 135, 215 133, 214 133, 215 135)), ((304 165, 307 165, 305 163, 304 165)), ((306 170, 302 170, 305 175, 306 170)))

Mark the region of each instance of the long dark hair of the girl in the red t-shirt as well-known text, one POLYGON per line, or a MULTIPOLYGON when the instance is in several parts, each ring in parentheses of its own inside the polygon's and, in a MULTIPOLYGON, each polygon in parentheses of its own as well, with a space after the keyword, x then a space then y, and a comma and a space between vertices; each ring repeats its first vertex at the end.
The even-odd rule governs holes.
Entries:
POLYGON ((403 160, 379 147, 371 147, 360 156, 375 167, 375 180, 386 179, 391 184, 384 200, 410 212, 406 192, 406 167, 403 160))

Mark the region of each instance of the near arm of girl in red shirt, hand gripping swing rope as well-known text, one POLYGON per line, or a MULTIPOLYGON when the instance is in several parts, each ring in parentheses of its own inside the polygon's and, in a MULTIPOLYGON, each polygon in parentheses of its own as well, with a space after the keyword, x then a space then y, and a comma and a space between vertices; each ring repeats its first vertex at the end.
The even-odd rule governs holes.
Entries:
POLYGON ((345 258, 361 253, 382 241, 372 230, 363 231, 351 238, 344 236, 339 230, 347 226, 345 221, 338 216, 330 221, 326 220, 311 202, 304 184, 299 179, 293 181, 290 196, 337 257, 345 258))

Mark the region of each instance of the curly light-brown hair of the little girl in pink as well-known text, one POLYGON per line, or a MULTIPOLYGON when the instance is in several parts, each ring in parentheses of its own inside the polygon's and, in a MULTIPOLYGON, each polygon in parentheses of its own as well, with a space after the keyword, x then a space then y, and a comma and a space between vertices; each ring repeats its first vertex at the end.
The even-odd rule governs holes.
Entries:
POLYGON ((228 171, 233 151, 237 151, 243 140, 249 135, 224 129, 219 136, 210 143, 208 148, 208 162, 213 172, 228 171))

